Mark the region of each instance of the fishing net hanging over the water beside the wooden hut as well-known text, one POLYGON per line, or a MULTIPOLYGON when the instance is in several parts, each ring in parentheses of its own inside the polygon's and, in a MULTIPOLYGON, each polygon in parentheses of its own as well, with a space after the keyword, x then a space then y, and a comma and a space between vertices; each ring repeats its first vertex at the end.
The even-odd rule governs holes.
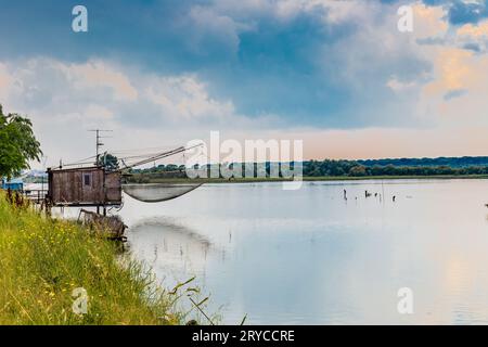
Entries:
POLYGON ((165 202, 184 195, 202 183, 147 183, 147 184, 124 184, 124 192, 144 203, 165 202))

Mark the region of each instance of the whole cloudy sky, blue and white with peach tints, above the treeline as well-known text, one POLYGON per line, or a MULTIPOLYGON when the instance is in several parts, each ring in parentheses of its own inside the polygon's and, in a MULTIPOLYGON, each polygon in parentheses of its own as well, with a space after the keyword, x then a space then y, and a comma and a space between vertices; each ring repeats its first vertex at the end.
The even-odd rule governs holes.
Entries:
POLYGON ((0 0, 0 103, 48 165, 92 155, 93 128, 108 150, 219 130, 307 158, 487 155, 487 0, 0 0))

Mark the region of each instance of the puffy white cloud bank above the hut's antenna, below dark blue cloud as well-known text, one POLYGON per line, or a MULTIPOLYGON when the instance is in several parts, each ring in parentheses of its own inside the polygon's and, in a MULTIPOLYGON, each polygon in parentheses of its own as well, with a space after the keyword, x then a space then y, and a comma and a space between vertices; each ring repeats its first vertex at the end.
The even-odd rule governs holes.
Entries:
POLYGON ((4 102, 25 112, 42 112, 47 118, 97 114, 123 121, 126 107, 141 107, 141 114, 151 111, 155 123, 240 117, 231 101, 211 98, 196 75, 144 74, 100 60, 67 64, 38 57, 1 63, 0 86, 4 102))

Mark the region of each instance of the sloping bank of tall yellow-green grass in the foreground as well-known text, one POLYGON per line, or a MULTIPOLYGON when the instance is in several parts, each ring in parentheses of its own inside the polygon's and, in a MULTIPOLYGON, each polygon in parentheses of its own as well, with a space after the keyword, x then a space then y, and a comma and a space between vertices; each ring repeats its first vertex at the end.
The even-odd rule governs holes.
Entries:
POLYGON ((114 242, 20 210, 0 191, 0 324, 179 324, 175 295, 114 242), (72 306, 88 294, 88 313, 72 306))

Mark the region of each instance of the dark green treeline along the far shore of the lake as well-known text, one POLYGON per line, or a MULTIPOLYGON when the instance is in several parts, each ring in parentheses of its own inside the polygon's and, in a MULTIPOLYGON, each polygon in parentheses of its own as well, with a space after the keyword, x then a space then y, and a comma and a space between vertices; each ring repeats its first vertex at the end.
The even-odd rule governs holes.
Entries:
MULTIPOLYGON (((243 165, 243 172, 245 171, 244 164, 232 165, 243 165)), ((258 165, 254 164, 254 166, 256 176, 258 165)), ((270 167, 271 164, 266 163, 267 176, 269 176, 270 167)), ((159 165, 133 170, 132 174, 142 174, 146 178, 184 178, 184 169, 183 165, 159 165)), ((207 169, 209 172, 210 167, 208 166, 207 169)), ((488 157, 309 160, 303 163, 303 175, 305 177, 488 175, 488 157)))

